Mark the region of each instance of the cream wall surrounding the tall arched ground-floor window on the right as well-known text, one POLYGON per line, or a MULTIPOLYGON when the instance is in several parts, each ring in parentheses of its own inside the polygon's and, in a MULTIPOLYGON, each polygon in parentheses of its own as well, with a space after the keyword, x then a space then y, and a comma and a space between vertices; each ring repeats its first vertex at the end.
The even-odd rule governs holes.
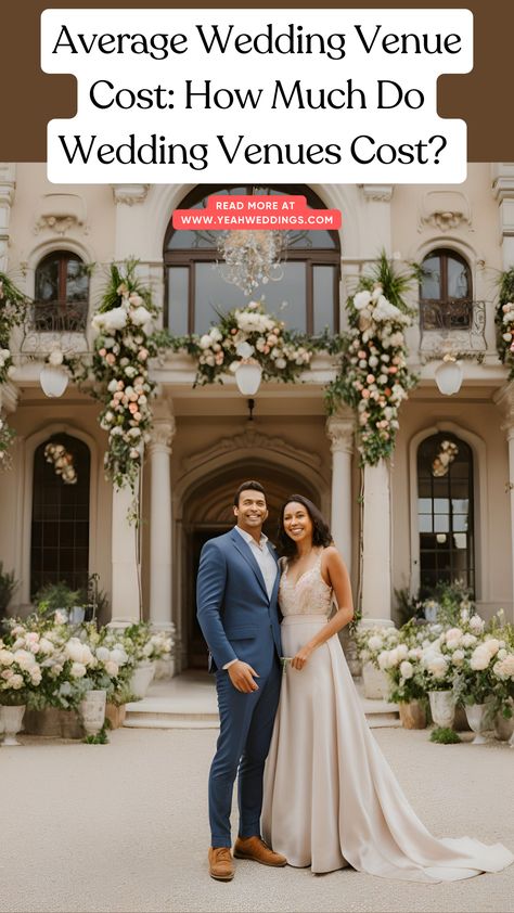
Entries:
MULTIPOLYGON (((464 432, 476 435, 485 445, 487 472, 480 476, 486 488, 487 510, 480 516, 480 505, 475 500, 475 560, 483 561, 483 579, 478 580, 477 599, 484 603, 483 614, 489 616, 503 606, 512 615, 512 546, 510 529, 507 446, 500 428, 501 416, 491 402, 466 401, 459 398, 414 396, 402 407, 400 432, 393 468, 393 586, 410 586, 411 575, 411 513, 410 483, 414 470, 410 465, 409 449, 412 438, 425 428, 440 422, 450 422, 464 432), (479 528, 477 529, 477 525, 479 528)), ((472 445, 473 447, 473 445, 472 445)), ((474 452, 475 472, 478 454, 474 452)))

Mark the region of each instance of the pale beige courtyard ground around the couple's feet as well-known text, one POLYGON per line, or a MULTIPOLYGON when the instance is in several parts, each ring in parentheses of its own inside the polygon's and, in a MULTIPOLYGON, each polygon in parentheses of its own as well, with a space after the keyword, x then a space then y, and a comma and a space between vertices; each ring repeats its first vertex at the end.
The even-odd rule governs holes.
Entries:
MULTIPOLYGON (((373 734, 433 833, 514 849, 514 749, 434 745, 426 730, 373 734)), ((206 781, 216 730, 110 737, 103 746, 22 735, 23 747, 0 748, 1 911, 514 911, 514 865, 413 885, 237 861, 233 882, 214 882, 206 781)))

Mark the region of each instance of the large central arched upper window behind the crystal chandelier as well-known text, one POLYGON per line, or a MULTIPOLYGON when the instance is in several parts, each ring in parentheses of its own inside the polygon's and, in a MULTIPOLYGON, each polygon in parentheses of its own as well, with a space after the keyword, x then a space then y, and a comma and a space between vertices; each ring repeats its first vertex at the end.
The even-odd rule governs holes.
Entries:
MULTIPOLYGON (((181 209, 202 209, 213 194, 301 194, 307 205, 324 204, 306 187, 198 187, 180 204, 181 209)), ((219 311, 244 307, 249 298, 223 281, 216 261, 221 232, 176 231, 171 221, 164 243, 166 269, 165 322, 175 335, 202 333, 218 320, 219 311)), ((340 252, 335 231, 298 231, 288 235, 283 278, 261 285, 253 298, 266 296, 266 308, 280 316, 290 330, 316 335, 339 327, 340 252), (282 309, 283 303, 286 307, 282 309)))

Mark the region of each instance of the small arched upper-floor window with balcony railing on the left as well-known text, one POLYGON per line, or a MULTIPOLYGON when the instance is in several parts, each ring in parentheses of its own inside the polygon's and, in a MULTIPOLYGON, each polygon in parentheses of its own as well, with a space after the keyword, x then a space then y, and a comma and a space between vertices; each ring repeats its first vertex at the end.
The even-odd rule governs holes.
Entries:
POLYGON ((34 326, 40 332, 81 333, 89 306, 89 271, 69 250, 53 250, 36 268, 34 326))

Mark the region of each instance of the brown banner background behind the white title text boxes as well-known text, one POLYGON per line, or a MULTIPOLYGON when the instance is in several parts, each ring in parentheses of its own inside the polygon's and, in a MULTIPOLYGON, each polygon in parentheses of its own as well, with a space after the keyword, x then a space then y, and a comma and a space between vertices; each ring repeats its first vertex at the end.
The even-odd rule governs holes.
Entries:
MULTIPOLYGON (((163 3, 150 0, 152 9, 218 10, 215 2, 163 3)), ((278 4, 262 2, 255 7, 274 10, 278 4)), ((40 69, 39 16, 51 9, 140 9, 139 2, 108 0, 9 0, 0 20, 0 158, 4 162, 44 162, 47 158, 47 123, 54 117, 73 117, 76 113, 74 76, 48 75, 40 69)), ((312 2, 282 2, 281 9, 312 9, 312 2)), ((514 117, 512 115, 512 36, 514 3, 497 0, 451 2, 354 2, 324 3, 323 9, 468 9, 475 16, 475 67, 465 75, 441 76, 438 80, 438 111, 442 117, 461 117, 467 121, 467 158, 470 162, 501 162, 514 154, 514 117)), ((226 3, 223 9, 244 7, 226 3)), ((248 9, 252 9, 248 7, 248 9)), ((123 20, 120 21, 123 23, 123 20)))

